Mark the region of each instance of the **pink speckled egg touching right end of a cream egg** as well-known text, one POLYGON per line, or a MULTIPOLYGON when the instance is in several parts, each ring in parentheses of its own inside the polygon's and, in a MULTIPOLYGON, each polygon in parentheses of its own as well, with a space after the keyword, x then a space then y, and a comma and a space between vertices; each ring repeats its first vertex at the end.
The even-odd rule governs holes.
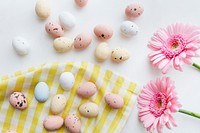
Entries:
POLYGON ((87 33, 80 33, 74 39, 74 48, 76 49, 84 49, 90 45, 92 42, 92 38, 87 33))

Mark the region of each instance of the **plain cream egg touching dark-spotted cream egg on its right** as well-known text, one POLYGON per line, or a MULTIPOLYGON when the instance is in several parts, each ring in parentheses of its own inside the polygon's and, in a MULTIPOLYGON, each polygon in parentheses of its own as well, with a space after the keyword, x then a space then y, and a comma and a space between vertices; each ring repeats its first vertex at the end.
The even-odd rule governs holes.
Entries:
POLYGON ((95 49, 95 57, 98 61, 105 61, 108 59, 110 53, 111 50, 105 42, 100 43, 95 49))

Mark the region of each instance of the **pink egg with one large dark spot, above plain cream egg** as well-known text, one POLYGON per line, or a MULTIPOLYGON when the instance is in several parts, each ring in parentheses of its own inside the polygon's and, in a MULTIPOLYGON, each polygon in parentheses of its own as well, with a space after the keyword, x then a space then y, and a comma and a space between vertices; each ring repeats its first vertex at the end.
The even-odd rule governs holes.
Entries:
POLYGON ((99 24, 94 28, 94 34, 100 40, 108 40, 113 35, 113 29, 109 25, 99 24))

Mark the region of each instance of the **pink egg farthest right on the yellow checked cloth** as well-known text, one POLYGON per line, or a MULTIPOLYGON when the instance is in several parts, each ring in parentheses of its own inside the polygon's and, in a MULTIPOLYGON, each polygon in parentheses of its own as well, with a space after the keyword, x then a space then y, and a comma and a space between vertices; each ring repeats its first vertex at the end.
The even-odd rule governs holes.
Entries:
POLYGON ((109 93, 104 97, 105 102, 112 109, 120 109, 124 105, 124 100, 120 95, 109 93))

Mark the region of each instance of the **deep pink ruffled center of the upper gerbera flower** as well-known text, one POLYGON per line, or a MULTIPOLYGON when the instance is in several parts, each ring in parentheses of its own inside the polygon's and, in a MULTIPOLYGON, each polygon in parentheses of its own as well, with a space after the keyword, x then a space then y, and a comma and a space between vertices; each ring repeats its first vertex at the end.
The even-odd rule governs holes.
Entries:
POLYGON ((161 48, 161 51, 169 59, 178 56, 184 51, 187 41, 182 35, 174 35, 167 39, 167 43, 161 48))

